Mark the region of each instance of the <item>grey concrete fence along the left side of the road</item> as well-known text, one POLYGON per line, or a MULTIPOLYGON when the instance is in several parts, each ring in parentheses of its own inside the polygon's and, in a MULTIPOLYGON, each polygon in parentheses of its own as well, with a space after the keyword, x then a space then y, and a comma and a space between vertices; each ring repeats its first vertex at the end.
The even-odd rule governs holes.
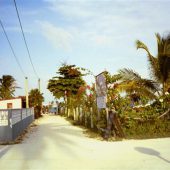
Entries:
POLYGON ((0 142, 15 140, 34 120, 34 108, 0 110, 0 142))

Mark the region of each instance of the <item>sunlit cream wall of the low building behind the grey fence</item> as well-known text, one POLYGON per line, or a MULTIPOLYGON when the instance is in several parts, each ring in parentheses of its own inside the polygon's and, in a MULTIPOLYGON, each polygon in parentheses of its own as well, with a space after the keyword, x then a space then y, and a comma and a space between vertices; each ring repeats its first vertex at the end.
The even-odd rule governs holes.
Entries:
POLYGON ((0 109, 7 109, 7 104, 12 103, 12 109, 21 109, 22 100, 19 99, 10 99, 10 100, 0 100, 0 109))

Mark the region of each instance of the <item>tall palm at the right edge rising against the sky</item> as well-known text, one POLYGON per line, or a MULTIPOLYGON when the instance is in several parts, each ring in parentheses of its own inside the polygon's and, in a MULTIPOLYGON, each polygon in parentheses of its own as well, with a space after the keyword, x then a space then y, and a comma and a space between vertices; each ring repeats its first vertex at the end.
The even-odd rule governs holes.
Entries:
POLYGON ((136 41, 137 49, 141 48, 147 52, 150 71, 153 79, 162 85, 162 95, 168 90, 170 83, 170 34, 161 37, 156 34, 158 52, 157 56, 153 56, 148 47, 141 41, 136 41))

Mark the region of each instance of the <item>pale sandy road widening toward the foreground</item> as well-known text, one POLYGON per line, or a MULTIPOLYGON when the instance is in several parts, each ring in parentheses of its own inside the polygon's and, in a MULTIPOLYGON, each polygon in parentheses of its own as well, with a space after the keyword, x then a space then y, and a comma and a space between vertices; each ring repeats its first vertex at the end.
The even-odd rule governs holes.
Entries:
POLYGON ((170 138, 105 142, 59 116, 38 124, 21 144, 0 146, 0 170, 170 170, 170 138))

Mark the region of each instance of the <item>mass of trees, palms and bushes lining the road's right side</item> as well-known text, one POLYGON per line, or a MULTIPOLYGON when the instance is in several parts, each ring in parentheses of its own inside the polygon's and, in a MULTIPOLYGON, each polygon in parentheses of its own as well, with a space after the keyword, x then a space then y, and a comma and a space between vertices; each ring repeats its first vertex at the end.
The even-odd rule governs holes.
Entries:
POLYGON ((57 76, 49 80, 48 89, 56 98, 63 98, 60 114, 73 119, 95 133, 125 138, 170 136, 170 35, 156 34, 158 54, 152 56, 147 46, 136 42, 137 49, 147 52, 152 79, 142 78, 132 69, 121 69, 107 80, 107 109, 96 106, 95 84, 86 85, 86 71, 63 64, 57 76), (163 101, 163 102, 162 102, 163 101), (113 110, 112 128, 108 116, 113 110))

